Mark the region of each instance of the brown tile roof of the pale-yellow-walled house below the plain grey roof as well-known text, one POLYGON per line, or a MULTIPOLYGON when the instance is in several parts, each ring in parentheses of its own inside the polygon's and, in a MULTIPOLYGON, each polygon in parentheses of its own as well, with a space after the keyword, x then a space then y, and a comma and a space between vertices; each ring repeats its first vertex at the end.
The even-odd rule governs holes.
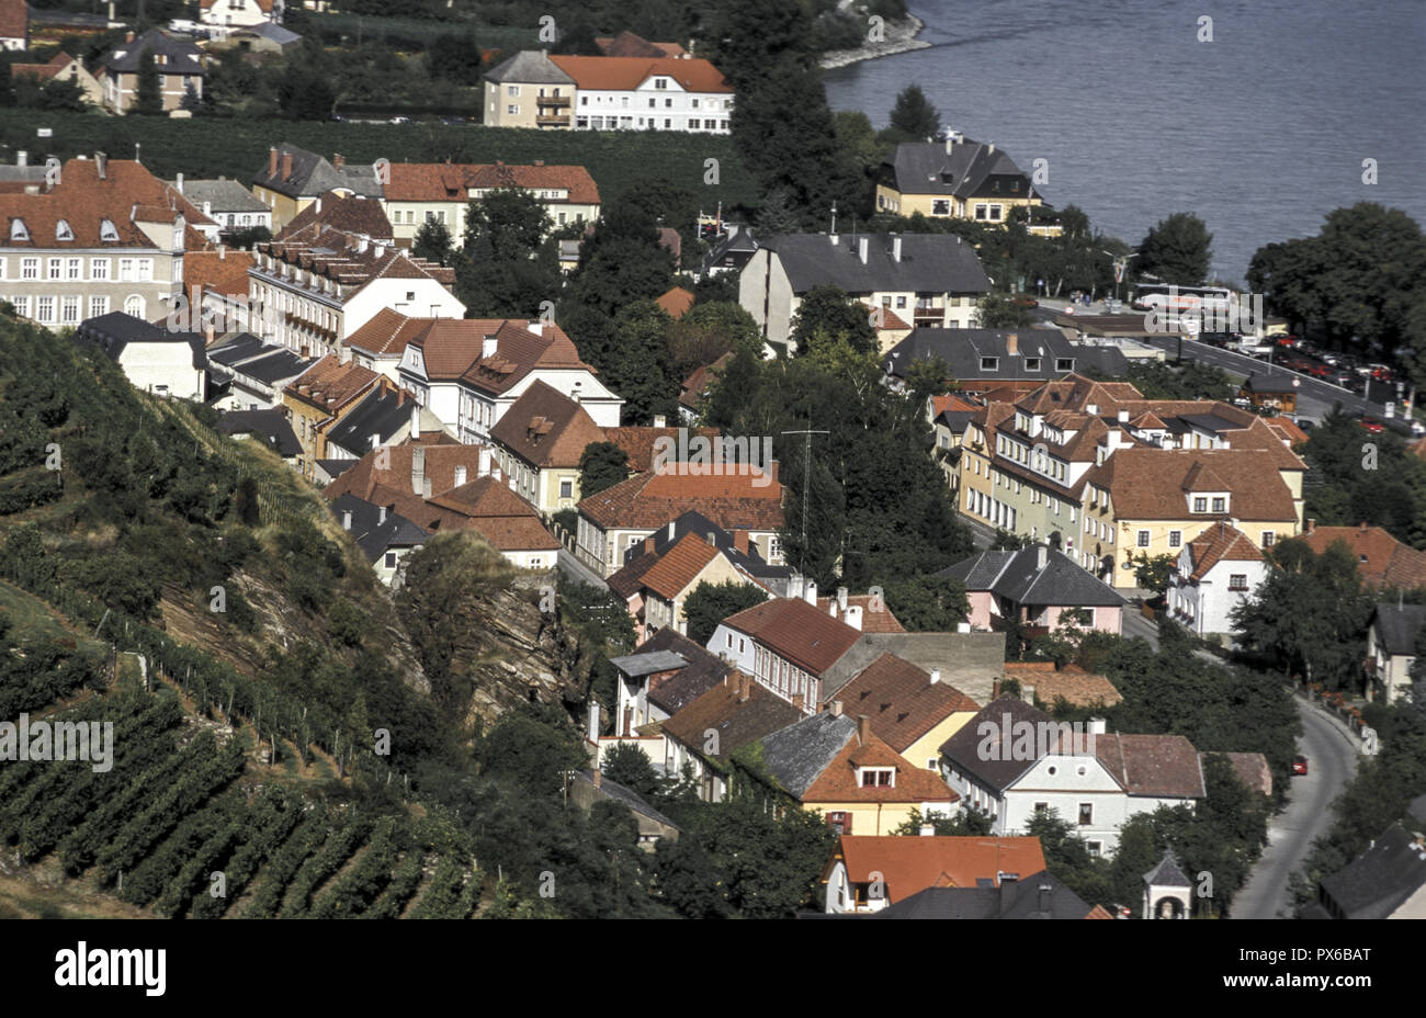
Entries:
POLYGON ((877 657, 837 690, 837 700, 847 714, 866 714, 871 730, 897 753, 904 753, 951 714, 980 710, 980 704, 954 686, 944 680, 933 683, 930 672, 890 653, 877 657))

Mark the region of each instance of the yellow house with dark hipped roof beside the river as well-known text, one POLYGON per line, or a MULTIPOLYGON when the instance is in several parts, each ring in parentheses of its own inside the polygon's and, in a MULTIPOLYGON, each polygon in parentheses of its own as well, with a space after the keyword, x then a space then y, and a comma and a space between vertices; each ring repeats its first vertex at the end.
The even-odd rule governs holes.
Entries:
MULTIPOLYGON (((877 177, 877 211, 937 220, 974 220, 1004 225, 1015 208, 1042 208, 1031 178, 995 143, 953 134, 941 141, 897 145, 877 177)), ((1057 224, 1032 231, 1057 237, 1057 224)))

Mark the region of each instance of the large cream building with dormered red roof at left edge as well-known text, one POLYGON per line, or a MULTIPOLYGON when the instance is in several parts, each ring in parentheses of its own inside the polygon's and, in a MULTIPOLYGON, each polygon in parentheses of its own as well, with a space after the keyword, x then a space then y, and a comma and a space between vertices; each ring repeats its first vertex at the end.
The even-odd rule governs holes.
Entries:
POLYGON ((141 164, 73 158, 36 192, 0 194, 0 297, 50 328, 121 311, 153 321, 184 285, 184 257, 217 224, 141 164))

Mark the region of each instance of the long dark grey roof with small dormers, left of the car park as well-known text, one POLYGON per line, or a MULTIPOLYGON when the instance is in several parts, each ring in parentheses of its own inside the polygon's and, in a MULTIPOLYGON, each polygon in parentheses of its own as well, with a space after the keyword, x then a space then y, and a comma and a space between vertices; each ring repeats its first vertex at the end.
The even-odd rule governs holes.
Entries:
POLYGON ((940 329, 915 328, 881 358, 881 369, 896 378, 906 378, 913 361, 938 356, 951 368, 951 376, 963 382, 1044 381, 1061 378, 1055 361, 1072 358, 1072 371, 1094 371, 1105 378, 1122 378, 1129 362, 1118 346, 1081 346, 1070 342, 1060 329, 940 329), (1017 352, 1010 352, 1010 336, 1017 339, 1017 352), (981 366, 981 358, 995 358, 994 368, 981 366), (1037 366, 1027 364, 1040 358, 1037 366))

